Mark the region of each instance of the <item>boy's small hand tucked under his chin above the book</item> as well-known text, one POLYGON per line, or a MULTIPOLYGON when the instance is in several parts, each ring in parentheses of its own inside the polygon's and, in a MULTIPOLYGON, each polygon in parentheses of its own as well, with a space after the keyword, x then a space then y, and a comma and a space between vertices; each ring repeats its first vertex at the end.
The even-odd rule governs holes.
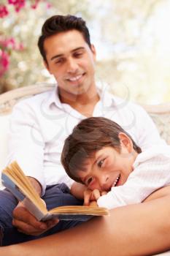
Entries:
POLYGON ((94 189, 93 191, 90 189, 86 189, 84 192, 84 206, 90 206, 91 201, 98 200, 101 195, 106 195, 106 191, 100 192, 98 189, 94 189))

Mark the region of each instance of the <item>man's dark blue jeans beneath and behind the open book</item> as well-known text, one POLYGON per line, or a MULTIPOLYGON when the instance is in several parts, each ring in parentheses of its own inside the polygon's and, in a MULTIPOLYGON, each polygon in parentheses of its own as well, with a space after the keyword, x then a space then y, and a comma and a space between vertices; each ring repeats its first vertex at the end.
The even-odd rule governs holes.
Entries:
MULTIPOLYGON (((45 200, 47 209, 55 208, 58 206, 80 206, 82 201, 75 198, 70 194, 69 188, 66 184, 57 184, 47 186, 45 195, 42 197, 45 200)), ((7 189, 0 191, 0 236, 1 246, 9 244, 18 244, 24 241, 30 241, 40 237, 49 236, 53 233, 58 233, 61 230, 66 230, 69 227, 74 227, 82 222, 71 220, 61 220, 58 225, 52 227, 47 232, 40 236, 28 236, 18 232, 17 228, 12 226, 12 211, 18 205, 18 200, 7 189)), ((85 218, 85 221, 87 218, 85 218)))

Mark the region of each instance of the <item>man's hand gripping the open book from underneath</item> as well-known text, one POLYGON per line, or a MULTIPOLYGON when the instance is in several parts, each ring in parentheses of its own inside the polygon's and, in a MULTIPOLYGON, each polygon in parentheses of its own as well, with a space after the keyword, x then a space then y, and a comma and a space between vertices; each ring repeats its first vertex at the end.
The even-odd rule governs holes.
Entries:
POLYGON ((58 219, 50 219, 47 222, 39 222, 27 209, 23 203, 18 203, 18 206, 13 211, 12 225, 18 228, 18 231, 31 236, 39 236, 45 233, 51 227, 54 227, 59 222, 58 219))

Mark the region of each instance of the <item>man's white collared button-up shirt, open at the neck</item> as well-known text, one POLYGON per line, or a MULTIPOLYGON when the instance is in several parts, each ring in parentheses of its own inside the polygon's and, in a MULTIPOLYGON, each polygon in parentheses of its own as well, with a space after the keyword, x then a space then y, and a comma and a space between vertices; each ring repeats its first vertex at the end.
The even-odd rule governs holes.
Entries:
MULTIPOLYGON (((163 144, 151 118, 140 106, 98 91, 93 116, 110 118, 120 124, 142 148, 163 144)), ((36 178, 42 185, 42 195, 47 185, 72 180, 61 166, 61 151, 66 137, 85 116, 70 105, 61 103, 58 89, 23 99, 13 108, 9 131, 9 157, 26 176, 36 178)))

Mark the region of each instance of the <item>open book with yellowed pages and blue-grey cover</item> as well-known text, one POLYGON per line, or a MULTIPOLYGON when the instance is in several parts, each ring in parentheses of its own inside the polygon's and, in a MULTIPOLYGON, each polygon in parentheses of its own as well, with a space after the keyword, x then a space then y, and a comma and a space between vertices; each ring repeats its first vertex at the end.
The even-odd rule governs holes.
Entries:
POLYGON ((45 203, 17 162, 12 162, 2 171, 1 180, 4 187, 7 187, 18 200, 23 201, 24 206, 38 220, 45 221, 52 218, 85 220, 92 216, 109 214, 107 208, 92 206, 60 206, 47 211, 45 203))

